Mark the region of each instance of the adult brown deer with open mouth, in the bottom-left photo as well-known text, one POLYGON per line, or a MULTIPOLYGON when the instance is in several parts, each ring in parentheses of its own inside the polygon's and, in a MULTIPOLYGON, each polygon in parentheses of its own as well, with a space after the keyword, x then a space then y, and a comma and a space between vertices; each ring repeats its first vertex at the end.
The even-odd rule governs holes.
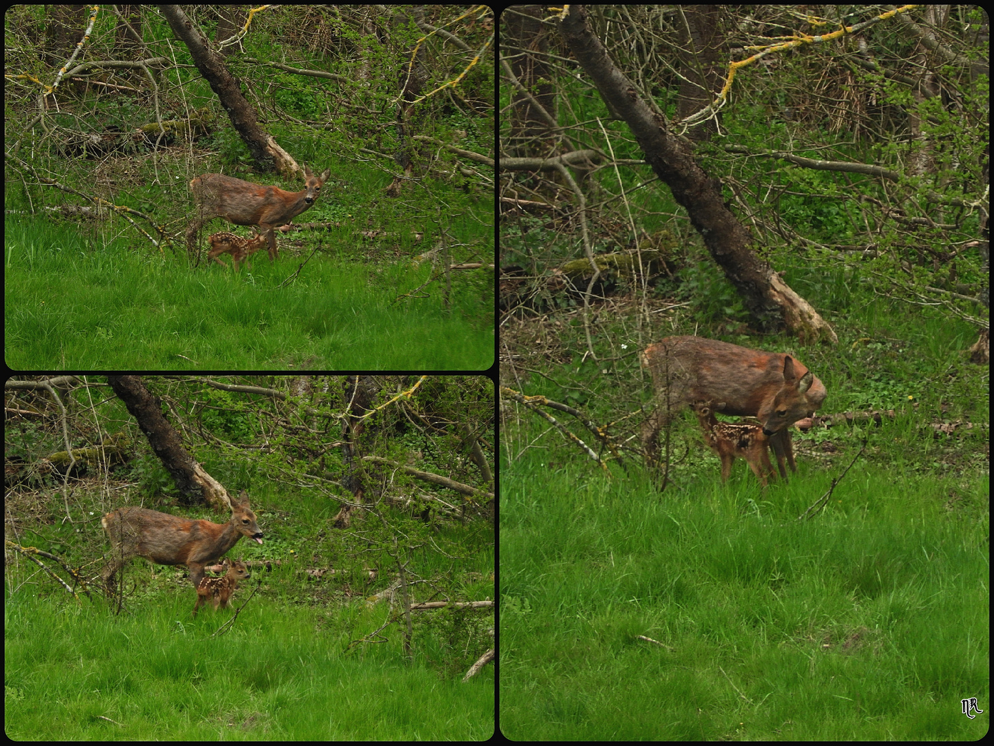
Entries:
POLYGON ((204 566, 218 560, 243 536, 262 543, 255 513, 248 507, 248 493, 242 490, 232 500, 228 523, 180 518, 144 507, 119 507, 100 519, 110 538, 110 560, 103 570, 103 582, 113 592, 114 575, 132 557, 144 557, 160 565, 186 565, 194 588, 204 578, 204 566))

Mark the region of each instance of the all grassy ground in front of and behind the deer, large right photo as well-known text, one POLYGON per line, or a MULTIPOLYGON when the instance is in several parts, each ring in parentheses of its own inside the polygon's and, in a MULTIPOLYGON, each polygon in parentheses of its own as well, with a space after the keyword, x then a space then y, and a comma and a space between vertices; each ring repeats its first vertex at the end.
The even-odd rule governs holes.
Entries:
MULTIPOLYGON (((831 292, 831 273, 827 280, 818 286, 831 292)), ((796 348, 828 389, 819 414, 830 420, 794 434, 798 472, 765 490, 741 460, 722 483, 688 412, 670 433, 664 490, 624 450, 637 444, 639 407, 651 396, 630 319, 598 329, 598 339, 626 350, 608 362, 578 354, 541 375, 530 375, 535 361, 519 362, 517 389, 605 426, 622 461, 578 420, 547 410, 605 459, 601 469, 505 398, 500 707, 508 738, 986 733, 989 371, 967 359, 969 324, 886 298, 849 300, 837 314, 815 293, 839 334, 834 347, 722 336, 796 348), (878 422, 868 412, 883 414, 878 422), (801 517, 824 496, 823 510, 801 517), (985 710, 973 719, 962 705, 971 697, 985 710)), ((575 318, 557 326, 556 339, 582 349, 581 334, 575 318)), ((521 339, 539 336, 527 328, 521 339)), ((505 385, 511 372, 503 371, 505 385)))

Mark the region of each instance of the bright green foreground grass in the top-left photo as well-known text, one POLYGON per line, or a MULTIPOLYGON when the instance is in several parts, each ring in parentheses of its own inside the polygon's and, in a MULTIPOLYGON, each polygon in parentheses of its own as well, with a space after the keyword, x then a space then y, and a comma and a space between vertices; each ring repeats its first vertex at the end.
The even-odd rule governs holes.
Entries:
MULTIPOLYGON (((218 224, 217 230, 223 230, 218 224)), ((283 239, 283 241, 286 241, 283 239)), ((415 252, 370 261, 351 230, 240 275, 8 221, 5 359, 15 370, 471 370, 493 363, 493 275, 455 272, 451 307, 415 252), (330 248, 329 248, 330 247, 330 248), (410 294, 409 294, 410 293, 410 294)), ((441 280, 442 282, 444 280, 441 280)))

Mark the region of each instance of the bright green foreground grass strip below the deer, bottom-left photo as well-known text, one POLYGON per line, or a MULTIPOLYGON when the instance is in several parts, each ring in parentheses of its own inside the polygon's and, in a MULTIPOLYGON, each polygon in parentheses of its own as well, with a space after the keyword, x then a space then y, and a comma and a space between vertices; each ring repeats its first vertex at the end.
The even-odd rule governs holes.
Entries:
MULTIPOLYGON (((248 595, 248 581, 235 596, 248 595)), ((192 587, 113 617, 85 599, 59 608, 21 594, 5 604, 7 735, 17 740, 486 740, 493 668, 440 677, 427 653, 361 645, 384 609, 358 599, 328 614, 258 596, 202 610, 192 587), (235 606, 241 605, 235 603, 235 606)), ((395 638, 398 636, 392 636, 395 638)))

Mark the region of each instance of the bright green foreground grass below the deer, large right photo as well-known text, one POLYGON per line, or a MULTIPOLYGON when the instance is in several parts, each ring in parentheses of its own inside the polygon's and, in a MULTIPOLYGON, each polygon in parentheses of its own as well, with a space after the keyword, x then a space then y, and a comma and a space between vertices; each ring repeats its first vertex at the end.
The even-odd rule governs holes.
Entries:
MULTIPOLYGON (((891 435, 872 437, 871 453, 891 435)), ((605 479, 550 456, 502 472, 509 738, 987 731, 986 713, 960 707, 989 701, 985 474, 861 460, 826 512, 798 522, 839 468, 802 457, 789 485, 762 493, 742 462, 722 486, 714 460, 660 494, 637 467, 605 479)))

